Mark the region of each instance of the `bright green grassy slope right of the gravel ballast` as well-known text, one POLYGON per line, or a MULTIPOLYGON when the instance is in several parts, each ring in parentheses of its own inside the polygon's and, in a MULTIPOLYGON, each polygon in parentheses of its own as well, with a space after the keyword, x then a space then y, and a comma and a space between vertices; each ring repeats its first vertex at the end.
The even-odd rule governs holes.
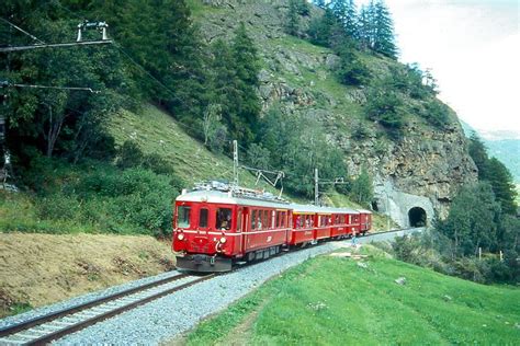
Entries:
POLYGON ((368 268, 347 258, 310 260, 201 323, 188 344, 226 344, 251 316, 245 344, 518 342, 518 288, 483 286, 378 255, 365 263, 368 268), (395 284, 398 277, 406 285, 395 284))

